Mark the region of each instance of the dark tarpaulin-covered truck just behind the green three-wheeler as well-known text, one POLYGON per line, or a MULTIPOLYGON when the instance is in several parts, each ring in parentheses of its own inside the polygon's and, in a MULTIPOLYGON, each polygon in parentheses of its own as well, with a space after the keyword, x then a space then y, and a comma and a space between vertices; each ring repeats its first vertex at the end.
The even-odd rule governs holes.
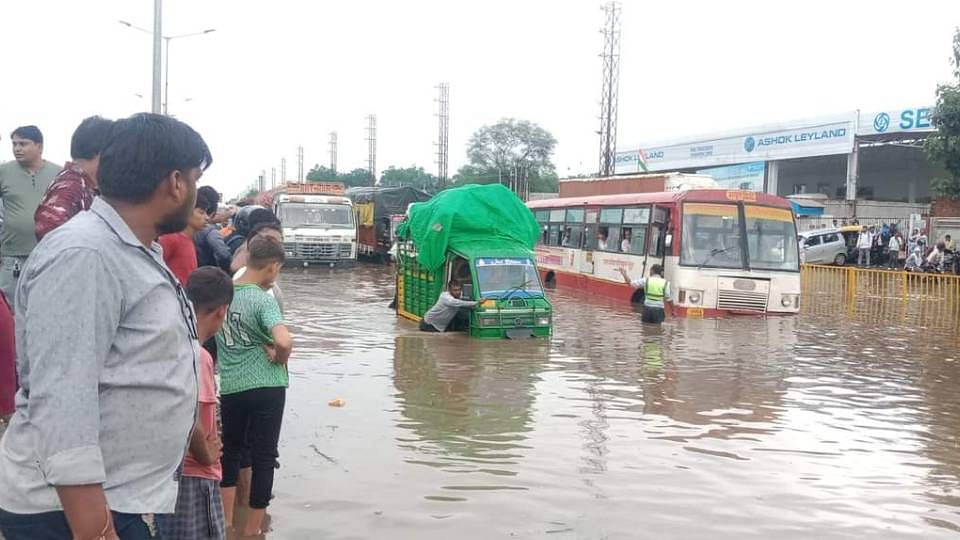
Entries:
POLYGON ((347 190, 347 196, 357 218, 359 255, 380 261, 389 258, 407 208, 430 199, 429 193, 409 186, 355 187, 347 190))

